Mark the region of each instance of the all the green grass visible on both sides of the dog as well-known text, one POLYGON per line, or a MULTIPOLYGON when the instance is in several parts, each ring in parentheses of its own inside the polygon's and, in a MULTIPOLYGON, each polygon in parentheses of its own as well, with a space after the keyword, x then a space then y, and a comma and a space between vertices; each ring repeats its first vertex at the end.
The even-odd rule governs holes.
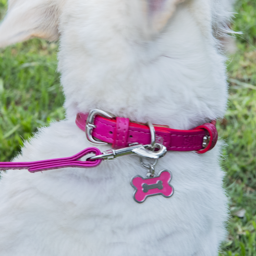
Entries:
MULTIPOLYGON (((0 19, 6 7, 0 0, 0 19)), ((243 35, 227 61, 229 108, 218 122, 227 143, 222 166, 231 205, 219 256, 256 256, 256 0, 238 0, 235 12, 232 28, 243 35)), ((37 127, 64 118, 57 50, 39 39, 0 49, 0 161, 15 156, 37 127)))

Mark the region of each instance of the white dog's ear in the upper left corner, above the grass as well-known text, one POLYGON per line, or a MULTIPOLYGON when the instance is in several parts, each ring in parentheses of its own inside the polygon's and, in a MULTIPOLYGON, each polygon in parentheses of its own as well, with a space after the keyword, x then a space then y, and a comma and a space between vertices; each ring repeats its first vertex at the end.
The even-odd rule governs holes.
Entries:
POLYGON ((63 0, 9 0, 0 24, 0 47, 33 37, 57 40, 61 4, 63 0))

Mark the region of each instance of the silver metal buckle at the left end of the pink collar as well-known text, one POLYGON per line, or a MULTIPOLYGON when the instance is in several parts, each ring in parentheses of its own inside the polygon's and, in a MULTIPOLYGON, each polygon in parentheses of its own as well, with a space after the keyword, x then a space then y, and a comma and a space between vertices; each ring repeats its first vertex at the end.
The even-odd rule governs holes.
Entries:
POLYGON ((115 116, 110 112, 107 112, 104 110, 98 110, 98 109, 91 110, 86 120, 85 134, 88 141, 90 141, 91 143, 97 144, 97 145, 107 145, 108 143, 97 141, 92 137, 93 128, 96 128, 96 125, 94 124, 94 119, 97 115, 107 117, 107 118, 115 118, 115 116))

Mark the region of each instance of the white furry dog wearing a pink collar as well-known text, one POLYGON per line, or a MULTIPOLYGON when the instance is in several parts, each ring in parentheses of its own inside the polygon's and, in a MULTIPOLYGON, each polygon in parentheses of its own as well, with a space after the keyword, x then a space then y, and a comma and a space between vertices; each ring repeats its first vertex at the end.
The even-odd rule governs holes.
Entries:
MULTIPOLYGON (((135 122, 192 129, 223 117, 225 0, 9 0, 0 47, 60 37, 67 119, 42 128, 15 161, 72 156, 91 146, 75 125, 98 108, 135 122)), ((101 151, 110 146, 98 146, 101 151)), ((217 256, 227 198, 220 143, 167 152, 174 194, 137 204, 124 156, 94 169, 10 170, 0 181, 1 256, 217 256)))

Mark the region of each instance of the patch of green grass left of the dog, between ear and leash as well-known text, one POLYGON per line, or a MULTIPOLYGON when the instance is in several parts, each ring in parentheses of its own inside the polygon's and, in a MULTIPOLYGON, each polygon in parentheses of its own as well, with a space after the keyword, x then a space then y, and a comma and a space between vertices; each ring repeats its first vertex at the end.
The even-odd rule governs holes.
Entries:
POLYGON ((37 127, 64 118, 57 48, 33 39, 0 49, 0 161, 15 156, 37 127))

